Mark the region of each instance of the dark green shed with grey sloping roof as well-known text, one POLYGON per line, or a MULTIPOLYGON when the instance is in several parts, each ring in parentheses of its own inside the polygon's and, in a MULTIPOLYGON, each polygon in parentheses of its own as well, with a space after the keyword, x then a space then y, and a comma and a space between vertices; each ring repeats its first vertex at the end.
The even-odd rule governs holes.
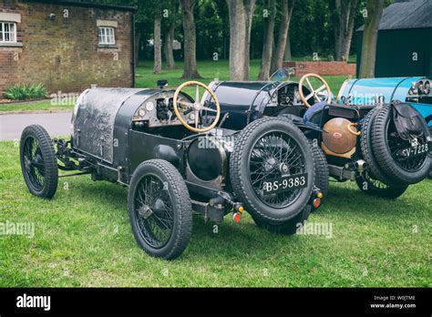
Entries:
MULTIPOLYGON (((364 26, 356 30, 357 77, 364 26)), ((432 77, 432 0, 398 1, 383 11, 375 77, 432 77)))

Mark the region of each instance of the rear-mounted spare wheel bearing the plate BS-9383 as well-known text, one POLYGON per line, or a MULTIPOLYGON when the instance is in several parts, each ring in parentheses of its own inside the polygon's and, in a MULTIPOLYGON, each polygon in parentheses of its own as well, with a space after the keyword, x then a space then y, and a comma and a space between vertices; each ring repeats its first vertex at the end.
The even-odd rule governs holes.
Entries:
POLYGON ((292 121, 261 118, 236 139, 230 174, 236 197, 253 219, 279 226, 302 212, 310 199, 314 158, 307 139, 292 121), (273 187, 276 182, 283 186, 273 187))

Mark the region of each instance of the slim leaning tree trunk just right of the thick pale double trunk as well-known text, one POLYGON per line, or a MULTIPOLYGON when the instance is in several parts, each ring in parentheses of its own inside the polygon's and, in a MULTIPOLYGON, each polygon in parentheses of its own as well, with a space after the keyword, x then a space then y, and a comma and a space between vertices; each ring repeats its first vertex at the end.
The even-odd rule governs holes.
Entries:
POLYGON ((274 43, 274 19, 276 17, 276 0, 268 0, 267 8, 270 14, 264 20, 264 40, 262 46, 262 58, 258 80, 269 80, 270 64, 272 63, 272 52, 274 43))

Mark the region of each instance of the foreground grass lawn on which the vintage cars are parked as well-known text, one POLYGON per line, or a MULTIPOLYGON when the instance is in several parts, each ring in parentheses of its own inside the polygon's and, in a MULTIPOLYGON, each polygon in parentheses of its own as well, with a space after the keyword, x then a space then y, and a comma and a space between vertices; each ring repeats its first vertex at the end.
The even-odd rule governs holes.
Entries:
POLYGON ((33 223, 35 235, 0 236, 0 287, 54 286, 432 286, 432 181, 395 201, 333 184, 310 222, 332 237, 285 237, 248 216, 194 218, 176 261, 150 258, 129 228, 127 189, 89 177, 61 179, 52 200, 30 195, 18 148, 0 142, 0 223, 33 223), (67 182, 67 183, 64 183, 67 182))

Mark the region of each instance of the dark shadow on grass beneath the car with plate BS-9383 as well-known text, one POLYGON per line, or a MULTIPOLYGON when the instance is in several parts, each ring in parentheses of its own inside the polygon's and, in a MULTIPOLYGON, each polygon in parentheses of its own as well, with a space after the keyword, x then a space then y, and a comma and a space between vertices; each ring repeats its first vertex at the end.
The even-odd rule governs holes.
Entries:
MULTIPOLYGON (((91 203, 103 201, 107 208, 103 209, 103 212, 100 210, 92 212, 97 212, 105 220, 119 217, 121 222, 129 222, 126 189, 114 184, 91 182, 90 179, 85 179, 85 182, 83 181, 79 186, 72 184, 71 187, 78 190, 77 195, 81 199, 88 199, 91 203), (112 208, 109 208, 110 206, 112 208)), ((57 195, 62 195, 62 192, 58 192, 57 195)), ((130 235, 132 235, 131 232, 130 235)), ((221 224, 218 224, 212 220, 206 222, 201 215, 194 213, 193 230, 187 253, 191 257, 200 257, 201 255, 198 253, 207 254, 207 256, 214 253, 215 256, 223 254, 224 257, 228 258, 237 257, 241 254, 252 254, 257 244, 261 244, 262 240, 269 243, 264 249, 272 253, 274 246, 280 243, 286 245, 286 243, 290 243, 290 240, 296 240, 296 237, 278 235, 268 230, 259 229, 249 215, 245 215, 241 223, 237 224, 232 220, 230 213, 225 216, 221 224)), ((135 243, 134 240, 133 243, 135 243)))

